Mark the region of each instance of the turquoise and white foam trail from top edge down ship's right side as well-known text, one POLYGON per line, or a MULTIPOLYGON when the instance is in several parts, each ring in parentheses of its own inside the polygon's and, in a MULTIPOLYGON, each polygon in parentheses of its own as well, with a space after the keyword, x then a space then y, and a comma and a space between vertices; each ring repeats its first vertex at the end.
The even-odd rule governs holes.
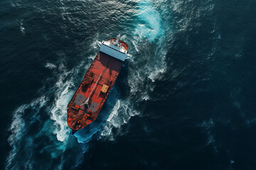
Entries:
MULTIPOLYGON (((137 13, 138 25, 134 30, 134 36, 132 45, 134 45, 134 50, 149 51, 150 49, 142 49, 145 46, 146 40, 149 40, 149 44, 156 46, 155 52, 152 54, 142 54, 143 56, 137 56, 137 61, 147 64, 140 65, 139 67, 132 66, 134 69, 130 70, 128 75, 128 84, 130 87, 131 95, 125 99, 120 99, 117 97, 117 101, 113 102, 114 106, 112 111, 107 118, 105 126, 100 131, 100 137, 107 140, 114 140, 115 135, 122 135, 121 129, 122 125, 129 122, 129 119, 134 115, 139 115, 139 112, 134 109, 132 103, 134 101, 149 100, 149 95, 147 91, 152 89, 152 86, 145 84, 146 77, 155 81, 159 74, 164 73, 166 70, 166 63, 164 62, 166 51, 163 49, 164 46, 164 34, 165 31, 162 28, 161 16, 156 8, 153 6, 151 1, 143 0, 139 1, 139 11, 137 13), (144 88, 146 86, 146 88, 144 88), (139 98, 138 98, 139 96, 139 98), (137 98, 137 99, 136 99, 137 98), (113 134, 113 129, 117 129, 117 134, 113 134)), ((127 36, 124 35, 125 40, 127 36)), ((132 59, 135 60, 135 59, 132 59)), ((136 64, 137 62, 131 62, 131 64, 136 64)), ((112 94, 110 95, 112 96, 112 94)))

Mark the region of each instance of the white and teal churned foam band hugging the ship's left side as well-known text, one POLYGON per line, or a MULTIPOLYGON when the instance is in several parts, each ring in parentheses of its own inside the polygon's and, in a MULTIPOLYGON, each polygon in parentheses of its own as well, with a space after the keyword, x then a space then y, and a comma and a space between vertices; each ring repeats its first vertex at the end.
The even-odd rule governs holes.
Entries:
MULTIPOLYGON (((72 98, 74 91, 70 90, 73 88, 73 82, 78 76, 78 72, 81 67, 83 67, 84 62, 81 62, 77 67, 68 70, 64 64, 60 64, 58 69, 55 70, 55 75, 58 78, 49 91, 54 91, 53 103, 49 105, 46 110, 49 113, 50 120, 47 120, 43 128, 36 135, 36 138, 41 138, 44 135, 48 136, 48 139, 51 141, 50 145, 43 147, 41 153, 50 154, 52 159, 60 159, 60 164, 56 169, 62 169, 63 164, 65 163, 67 156, 64 156, 66 149, 73 147, 72 137, 70 139, 70 128, 67 125, 67 106, 68 102, 72 98)), ((48 67, 51 69, 50 67, 48 67)), ((80 146, 75 146, 80 147, 80 146)), ((76 154, 78 157, 79 154, 76 154)), ((73 157, 73 159, 76 159, 73 157)))

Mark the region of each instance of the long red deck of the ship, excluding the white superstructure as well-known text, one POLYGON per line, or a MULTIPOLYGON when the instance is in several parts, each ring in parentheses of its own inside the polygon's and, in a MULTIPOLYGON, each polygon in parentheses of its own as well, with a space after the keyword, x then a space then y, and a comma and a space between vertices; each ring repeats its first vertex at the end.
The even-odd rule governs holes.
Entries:
POLYGON ((95 57, 78 90, 75 91, 73 98, 68 103, 67 121, 72 130, 80 130, 97 118, 122 69, 122 64, 121 60, 103 52, 99 52, 95 57), (104 84, 105 88, 102 89, 104 84), (86 104, 89 96, 90 100, 86 104))

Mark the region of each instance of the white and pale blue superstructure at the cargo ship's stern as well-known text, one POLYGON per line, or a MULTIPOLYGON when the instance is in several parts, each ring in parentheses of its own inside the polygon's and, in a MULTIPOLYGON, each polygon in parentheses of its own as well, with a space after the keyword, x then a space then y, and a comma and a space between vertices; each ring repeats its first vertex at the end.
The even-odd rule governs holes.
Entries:
POLYGON ((122 46, 122 43, 119 43, 119 36, 117 36, 117 40, 103 40, 102 42, 97 41, 97 44, 100 46, 100 51, 104 52, 107 55, 117 58, 118 60, 124 60, 132 57, 127 53, 127 50, 122 46))

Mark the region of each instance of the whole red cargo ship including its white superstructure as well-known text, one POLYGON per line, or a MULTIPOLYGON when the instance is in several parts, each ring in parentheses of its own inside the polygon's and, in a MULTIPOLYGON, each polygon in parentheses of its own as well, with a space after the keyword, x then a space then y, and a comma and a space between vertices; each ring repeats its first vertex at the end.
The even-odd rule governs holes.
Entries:
POLYGON ((110 38, 97 41, 100 52, 87 70, 67 107, 67 122, 72 134, 92 123, 99 115, 128 54, 126 42, 110 38))

